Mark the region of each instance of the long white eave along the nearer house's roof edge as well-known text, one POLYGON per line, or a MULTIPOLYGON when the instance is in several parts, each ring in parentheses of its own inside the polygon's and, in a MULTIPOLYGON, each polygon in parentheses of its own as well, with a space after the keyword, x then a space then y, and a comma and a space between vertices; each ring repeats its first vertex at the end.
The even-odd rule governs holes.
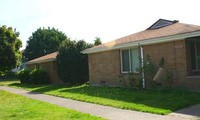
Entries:
POLYGON ((86 50, 83 50, 82 53, 91 54, 91 53, 97 53, 97 52, 103 52, 103 51, 109 51, 109 50, 115 50, 115 49, 122 49, 126 47, 134 47, 137 45, 150 45, 150 44, 170 42, 170 41, 175 41, 175 40, 180 40, 180 39, 195 37, 195 36, 200 36, 200 30, 188 32, 188 33, 170 35, 170 36, 165 36, 165 37, 159 37, 159 38, 138 40, 138 41, 128 42, 128 43, 114 45, 114 46, 107 46, 103 48, 86 49, 86 50))

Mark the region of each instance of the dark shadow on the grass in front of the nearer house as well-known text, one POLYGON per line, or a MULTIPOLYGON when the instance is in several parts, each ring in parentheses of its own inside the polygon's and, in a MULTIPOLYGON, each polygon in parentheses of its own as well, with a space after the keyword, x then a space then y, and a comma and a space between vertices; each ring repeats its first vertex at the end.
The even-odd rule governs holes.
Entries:
POLYGON ((145 106, 167 109, 170 111, 200 103, 200 94, 185 90, 152 89, 136 90, 110 87, 77 87, 60 92, 84 94, 98 98, 106 98, 127 103, 143 104, 145 106))

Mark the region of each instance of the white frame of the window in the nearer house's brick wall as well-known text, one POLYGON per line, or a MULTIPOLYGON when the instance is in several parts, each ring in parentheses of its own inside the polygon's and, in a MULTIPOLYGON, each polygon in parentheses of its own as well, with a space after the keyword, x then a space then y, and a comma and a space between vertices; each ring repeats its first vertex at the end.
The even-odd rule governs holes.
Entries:
MULTIPOLYGON (((121 67, 121 73, 139 73, 139 71, 135 71, 135 70, 132 70, 132 61, 131 61, 131 50, 132 49, 138 49, 138 59, 139 59, 139 48, 138 47, 129 47, 129 48, 123 48, 123 49, 120 49, 120 67, 121 67), (123 58, 122 58, 122 51, 123 50, 128 50, 128 53, 129 53, 129 71, 123 71, 123 58)), ((139 60, 138 60, 139 61, 139 60)), ((140 65, 140 61, 139 61, 139 65, 140 65)))

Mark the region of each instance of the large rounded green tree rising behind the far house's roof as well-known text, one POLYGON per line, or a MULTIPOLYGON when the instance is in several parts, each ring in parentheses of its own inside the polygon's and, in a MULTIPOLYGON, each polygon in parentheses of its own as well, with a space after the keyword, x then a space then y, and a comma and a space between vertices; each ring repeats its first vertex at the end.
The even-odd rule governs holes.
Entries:
POLYGON ((57 51, 60 43, 65 39, 67 36, 58 29, 49 27, 37 29, 27 41, 24 51, 25 61, 57 51))

